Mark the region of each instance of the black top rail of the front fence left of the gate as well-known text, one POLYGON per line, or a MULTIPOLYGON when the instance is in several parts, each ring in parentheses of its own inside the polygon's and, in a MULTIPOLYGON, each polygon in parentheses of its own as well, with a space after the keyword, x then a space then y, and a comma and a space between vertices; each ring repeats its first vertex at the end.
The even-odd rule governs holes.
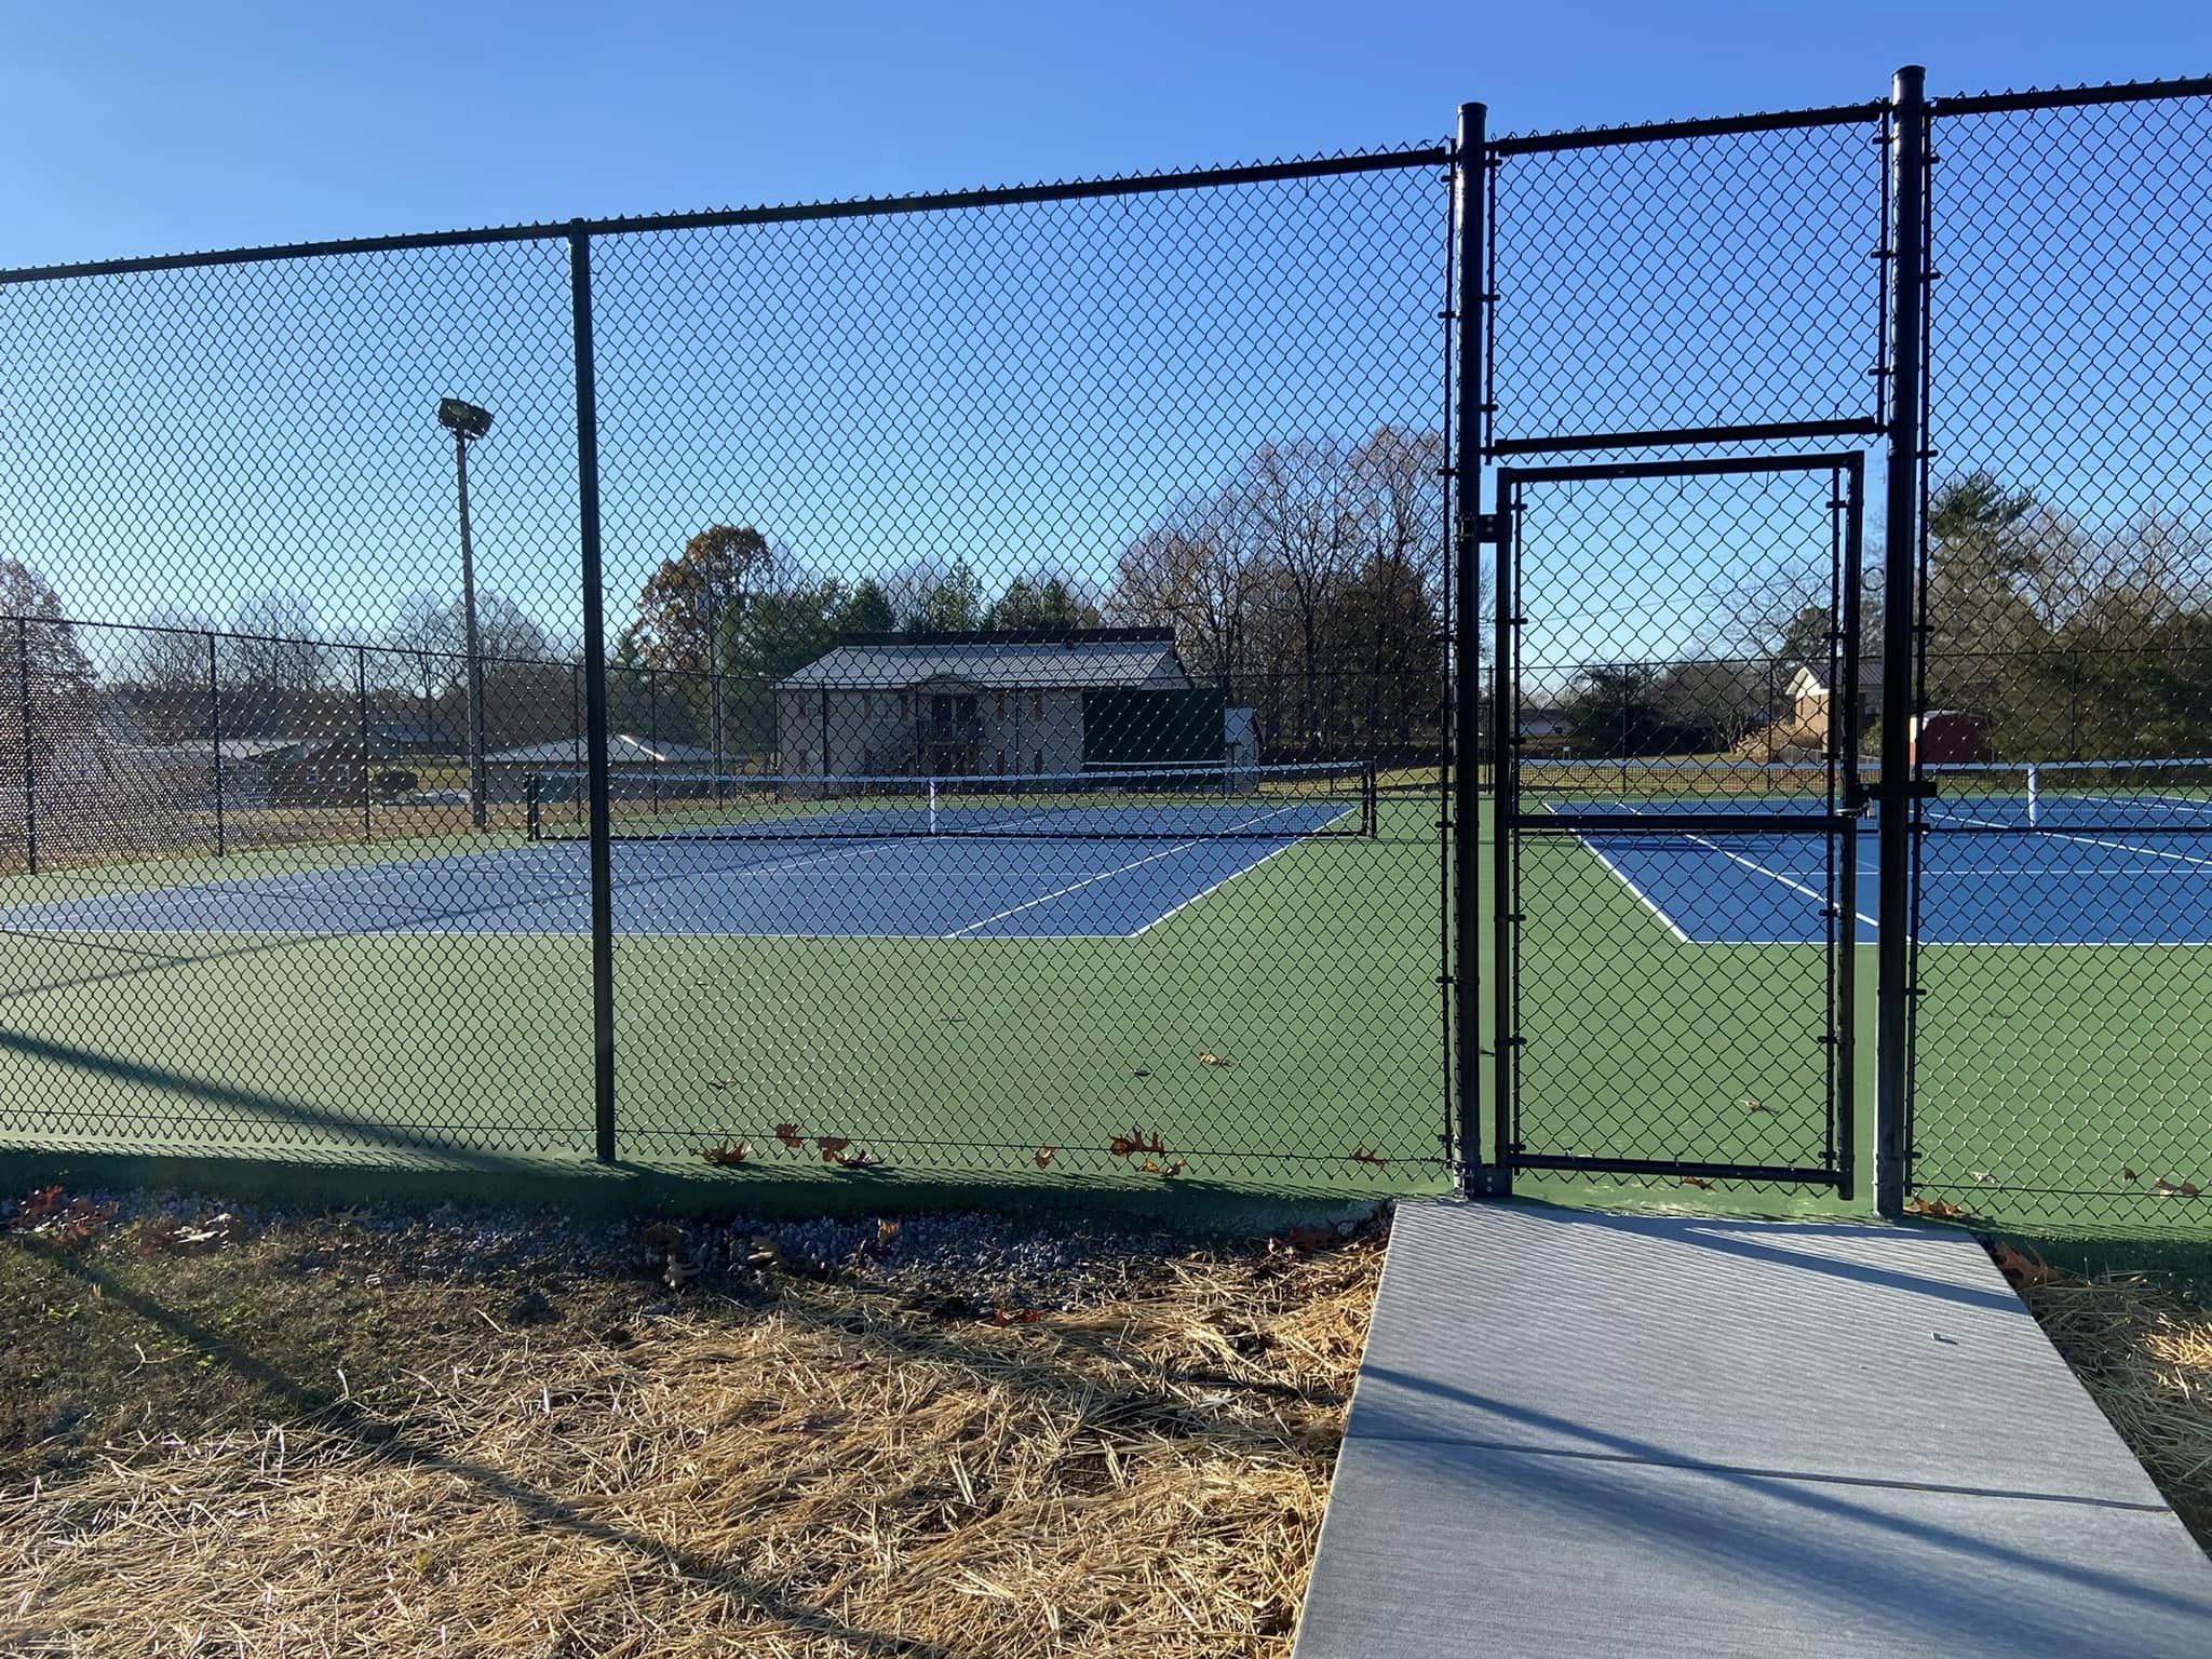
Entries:
POLYGON ((1391 173, 1400 168, 1444 166, 1449 144, 1405 144, 1385 150, 1345 150, 1287 161, 1252 161, 1219 168, 1181 168, 1161 173, 1124 173, 1062 184, 1013 184, 984 190, 936 190, 894 197, 849 197, 838 201, 794 201, 757 208, 710 208, 699 212, 622 215, 613 219, 566 219, 520 226, 487 226, 480 230, 425 230, 398 237, 345 237, 336 241, 288 241, 259 248, 217 248, 188 254, 139 254, 131 259, 91 259, 69 265, 20 265, 0 270, 0 285, 46 283, 69 276, 131 276, 159 270, 204 270, 208 265, 257 265, 283 259, 332 259, 347 254, 392 254, 422 248, 476 248, 507 241, 564 241, 573 237, 630 237, 655 230, 714 230, 730 226, 772 226, 807 219, 883 219, 911 212, 951 212, 960 208, 1035 206, 1048 201, 1086 201, 1097 197, 1164 195, 1172 190, 1206 190, 1239 184, 1285 184, 1327 179, 1349 173, 1391 173))

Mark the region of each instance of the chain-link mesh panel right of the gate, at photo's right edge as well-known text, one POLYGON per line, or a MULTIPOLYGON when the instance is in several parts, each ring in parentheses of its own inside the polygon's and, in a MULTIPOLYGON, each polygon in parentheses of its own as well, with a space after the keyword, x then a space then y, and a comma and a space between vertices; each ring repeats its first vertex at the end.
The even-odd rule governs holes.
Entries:
POLYGON ((1984 1214, 2192 1219, 2212 100, 1938 104, 1931 155, 1913 1175, 1984 1214))

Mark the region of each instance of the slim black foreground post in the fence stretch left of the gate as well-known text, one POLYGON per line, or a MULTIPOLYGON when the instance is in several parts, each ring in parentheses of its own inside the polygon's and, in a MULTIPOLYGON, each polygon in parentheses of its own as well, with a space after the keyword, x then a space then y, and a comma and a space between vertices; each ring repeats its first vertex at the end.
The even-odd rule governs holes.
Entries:
POLYGON ((599 573, 599 383, 591 336, 591 232, 568 228, 575 332, 577 542, 584 582, 584 754, 591 774, 591 1082, 597 1159, 615 1161, 615 856, 606 776, 606 595, 599 573))

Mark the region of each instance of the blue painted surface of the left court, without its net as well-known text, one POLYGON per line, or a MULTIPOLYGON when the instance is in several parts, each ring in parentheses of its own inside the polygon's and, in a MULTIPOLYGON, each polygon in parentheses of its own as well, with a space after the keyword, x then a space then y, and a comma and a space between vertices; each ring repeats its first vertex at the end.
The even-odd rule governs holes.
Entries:
MULTIPOLYGON (((615 931, 776 938, 1130 938, 1340 818, 1276 816, 1281 836, 1194 841, 624 841, 615 931)), ((51 900, 0 911, 42 933, 586 933, 580 841, 451 858, 51 900)))

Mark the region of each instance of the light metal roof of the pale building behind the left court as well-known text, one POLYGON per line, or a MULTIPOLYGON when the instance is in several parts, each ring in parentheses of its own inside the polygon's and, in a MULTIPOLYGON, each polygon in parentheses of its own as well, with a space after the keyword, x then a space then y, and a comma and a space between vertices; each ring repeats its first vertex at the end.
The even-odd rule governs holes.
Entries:
POLYGON ((852 635, 776 684, 794 690, 907 690, 931 679, 987 688, 1190 686, 1168 628, 852 635))

